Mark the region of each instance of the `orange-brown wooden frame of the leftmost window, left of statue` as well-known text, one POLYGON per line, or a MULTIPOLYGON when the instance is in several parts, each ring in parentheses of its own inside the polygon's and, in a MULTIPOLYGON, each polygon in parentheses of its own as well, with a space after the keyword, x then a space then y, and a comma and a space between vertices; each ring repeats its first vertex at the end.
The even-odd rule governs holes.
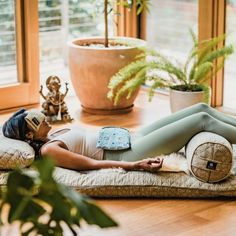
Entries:
POLYGON ((18 82, 0 87, 0 111, 39 103, 38 1, 15 0, 18 82))

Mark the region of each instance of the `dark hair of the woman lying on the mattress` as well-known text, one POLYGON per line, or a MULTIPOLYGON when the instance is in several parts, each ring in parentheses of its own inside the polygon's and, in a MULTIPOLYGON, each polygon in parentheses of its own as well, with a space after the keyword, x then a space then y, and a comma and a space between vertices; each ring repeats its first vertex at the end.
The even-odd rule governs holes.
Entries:
POLYGON ((27 142, 35 151, 35 156, 39 155, 39 150, 45 142, 29 140, 26 138, 27 124, 25 117, 27 112, 24 108, 14 113, 2 127, 3 135, 7 138, 18 139, 27 142))

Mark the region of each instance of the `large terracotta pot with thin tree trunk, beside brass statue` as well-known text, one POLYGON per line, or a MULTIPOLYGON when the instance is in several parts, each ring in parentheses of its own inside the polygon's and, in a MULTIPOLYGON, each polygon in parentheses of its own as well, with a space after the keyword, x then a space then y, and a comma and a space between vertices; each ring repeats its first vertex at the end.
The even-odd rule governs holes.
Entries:
MULTIPOLYGON (((124 40, 122 37, 112 40, 124 40)), ((143 40, 127 38, 136 44, 143 40)), ((91 43, 103 43, 103 38, 75 39, 69 42, 69 68, 75 92, 84 111, 92 114, 126 113, 132 110, 136 91, 130 99, 123 96, 117 106, 107 98, 110 78, 135 60, 140 51, 135 47, 98 48, 91 43)))

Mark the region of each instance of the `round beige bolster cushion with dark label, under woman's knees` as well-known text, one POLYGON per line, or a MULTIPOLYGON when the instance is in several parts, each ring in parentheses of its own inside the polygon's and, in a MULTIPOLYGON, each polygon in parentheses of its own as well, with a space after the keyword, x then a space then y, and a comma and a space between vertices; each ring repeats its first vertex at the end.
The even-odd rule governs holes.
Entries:
POLYGON ((205 131, 196 134, 186 145, 185 153, 189 170, 203 182, 219 182, 231 173, 233 148, 218 134, 205 131))

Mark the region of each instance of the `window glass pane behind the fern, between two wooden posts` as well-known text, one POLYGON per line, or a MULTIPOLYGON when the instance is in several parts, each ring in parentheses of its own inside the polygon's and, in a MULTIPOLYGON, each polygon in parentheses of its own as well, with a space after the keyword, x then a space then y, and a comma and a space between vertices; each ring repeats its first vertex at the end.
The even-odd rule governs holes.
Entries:
POLYGON ((198 0, 152 0, 147 41, 162 54, 184 61, 192 47, 189 33, 198 29, 198 0))

